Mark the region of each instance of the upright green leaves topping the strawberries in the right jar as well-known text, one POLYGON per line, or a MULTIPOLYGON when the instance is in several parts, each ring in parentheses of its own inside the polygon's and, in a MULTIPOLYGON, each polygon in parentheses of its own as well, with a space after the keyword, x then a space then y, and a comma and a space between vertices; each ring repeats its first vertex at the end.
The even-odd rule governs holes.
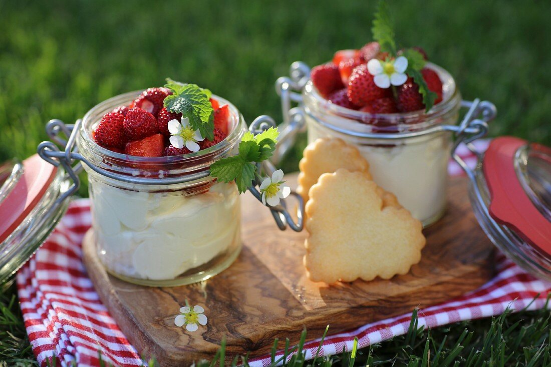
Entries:
MULTIPOLYGON (((390 20, 390 12, 385 0, 380 0, 377 6, 377 11, 373 19, 371 27, 373 39, 379 42, 382 52, 388 52, 392 57, 397 56, 397 46, 395 41, 395 33, 390 20)), ((423 55, 414 48, 406 48, 400 50, 401 55, 408 59, 408 68, 406 74, 413 78, 413 81, 419 85, 419 93, 423 96, 423 104, 425 111, 428 112, 436 100, 436 93, 429 90, 421 70, 425 66, 423 55)))

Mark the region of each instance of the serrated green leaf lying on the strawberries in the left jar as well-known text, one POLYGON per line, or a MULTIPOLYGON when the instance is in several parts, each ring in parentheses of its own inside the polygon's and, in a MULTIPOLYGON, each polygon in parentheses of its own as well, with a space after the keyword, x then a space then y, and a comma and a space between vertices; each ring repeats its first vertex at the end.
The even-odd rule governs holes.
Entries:
POLYGON ((190 119, 190 126, 199 130, 210 141, 214 140, 214 109, 210 104, 212 92, 197 84, 175 82, 166 78, 165 87, 172 94, 164 100, 164 106, 170 112, 182 114, 190 119))

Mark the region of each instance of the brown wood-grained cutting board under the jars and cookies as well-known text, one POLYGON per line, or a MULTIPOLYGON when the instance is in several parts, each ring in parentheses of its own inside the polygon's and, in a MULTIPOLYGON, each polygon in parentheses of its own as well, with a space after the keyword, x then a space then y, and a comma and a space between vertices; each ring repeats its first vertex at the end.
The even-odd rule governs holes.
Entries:
MULTIPOLYGON (((290 175, 291 176, 291 175, 290 175)), ((295 182, 296 176, 288 177, 295 182)), ((274 338, 298 342, 365 325, 451 299, 493 274, 493 245, 474 218, 466 180, 452 179, 444 218, 424 231, 423 258, 405 276, 328 287, 310 282, 302 266, 306 233, 280 231, 250 194, 242 196, 243 250, 226 271, 206 282, 148 288, 107 274, 95 256, 93 234, 83 242, 84 263, 101 300, 139 353, 162 366, 212 358, 226 337, 226 358, 269 352, 274 338), (202 305, 208 323, 193 333, 174 318, 188 300, 202 305)), ((291 344, 292 345, 292 344, 291 344)))

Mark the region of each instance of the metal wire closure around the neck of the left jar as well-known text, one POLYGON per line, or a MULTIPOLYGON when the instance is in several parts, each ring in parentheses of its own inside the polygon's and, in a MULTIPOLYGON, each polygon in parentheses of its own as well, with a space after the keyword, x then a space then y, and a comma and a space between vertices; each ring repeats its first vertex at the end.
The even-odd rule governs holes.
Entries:
MULTIPOLYGON (((164 178, 146 178, 146 177, 134 177, 116 174, 105 169, 101 169, 98 166, 91 164, 84 156, 78 153, 78 148, 76 146, 77 134, 80 128, 82 119, 77 120, 73 125, 66 125, 61 120, 50 120, 46 124, 46 132, 48 136, 52 139, 53 142, 64 146, 65 150, 62 152, 58 146, 53 142, 42 142, 37 148, 38 154, 42 159, 46 160, 48 163, 53 164, 56 167, 60 165, 63 167, 66 172, 66 177, 64 179, 71 179, 73 182, 72 185, 64 192, 53 204, 51 210, 55 210, 60 206, 64 200, 74 195, 78 188, 80 187, 80 180, 78 178, 79 172, 82 170, 82 163, 89 166, 90 169, 94 170, 100 175, 109 177, 111 179, 120 180, 123 182, 128 182, 130 184, 138 185, 172 185, 172 184, 182 184, 184 182, 195 181, 199 179, 206 178, 210 175, 210 170, 197 172, 195 174, 188 174, 185 177, 164 177, 164 178), (66 138, 63 138, 64 135, 66 138)), ((251 123, 249 130, 253 134, 260 134, 261 132, 267 130, 269 127, 275 127, 276 122, 273 118, 263 115, 259 116, 251 123)), ((272 174, 276 169, 273 164, 269 161, 264 161, 262 168, 268 173, 272 174)), ((261 165, 257 164, 257 172, 260 172, 261 165)), ((258 201, 262 202, 262 195, 258 191, 257 186, 261 184, 261 176, 257 173, 253 186, 249 187, 249 191, 255 196, 258 201)), ((289 211, 287 210, 287 203, 285 199, 282 199, 280 204, 277 207, 269 207, 274 220, 278 228, 285 230, 289 226, 292 230, 300 232, 304 226, 304 201, 302 197, 296 192, 291 191, 297 201, 299 202, 298 209, 296 211, 297 220, 291 217, 289 211)))

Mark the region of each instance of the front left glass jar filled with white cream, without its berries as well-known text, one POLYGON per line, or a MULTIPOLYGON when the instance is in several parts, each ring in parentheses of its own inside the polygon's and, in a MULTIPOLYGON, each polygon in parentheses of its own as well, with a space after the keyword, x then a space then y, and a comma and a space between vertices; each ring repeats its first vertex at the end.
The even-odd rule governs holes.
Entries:
POLYGON ((237 187, 216 182, 208 169, 236 153, 245 121, 234 105, 213 96, 228 104, 231 116, 228 137, 213 147, 148 158, 96 144, 92 131, 101 117, 140 93, 96 105, 79 128, 98 257, 107 272, 131 283, 171 287, 208 279, 228 268, 241 249, 237 187))

